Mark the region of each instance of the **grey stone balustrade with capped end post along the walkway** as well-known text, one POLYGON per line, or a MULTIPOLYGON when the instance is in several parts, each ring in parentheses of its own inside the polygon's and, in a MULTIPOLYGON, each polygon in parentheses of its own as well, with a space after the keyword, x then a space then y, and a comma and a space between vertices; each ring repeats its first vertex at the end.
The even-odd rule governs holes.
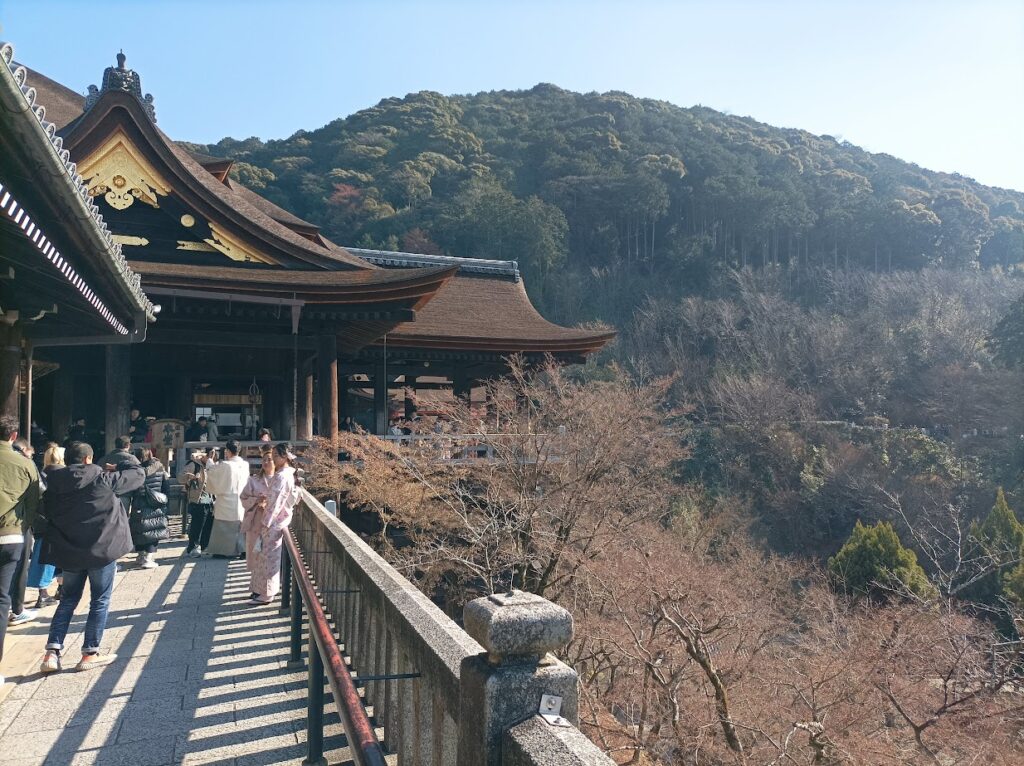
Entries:
POLYGON ((548 653, 571 635, 568 612, 528 594, 477 599, 467 606, 467 626, 481 643, 305 491, 292 534, 353 683, 398 764, 612 763, 574 727, 575 674, 548 653), (535 618, 523 630, 522 621, 535 618), (527 640, 520 631, 531 643, 514 645, 527 640), (560 715, 540 715, 542 695, 559 700, 560 715))

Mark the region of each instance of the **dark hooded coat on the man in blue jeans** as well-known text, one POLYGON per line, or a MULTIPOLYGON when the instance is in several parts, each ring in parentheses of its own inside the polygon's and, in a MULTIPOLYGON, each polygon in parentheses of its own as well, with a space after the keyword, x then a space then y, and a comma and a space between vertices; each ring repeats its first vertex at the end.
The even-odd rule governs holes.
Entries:
POLYGON ((122 463, 116 471, 75 464, 48 472, 41 560, 79 571, 105 566, 133 550, 118 496, 135 492, 144 480, 137 463, 122 463))

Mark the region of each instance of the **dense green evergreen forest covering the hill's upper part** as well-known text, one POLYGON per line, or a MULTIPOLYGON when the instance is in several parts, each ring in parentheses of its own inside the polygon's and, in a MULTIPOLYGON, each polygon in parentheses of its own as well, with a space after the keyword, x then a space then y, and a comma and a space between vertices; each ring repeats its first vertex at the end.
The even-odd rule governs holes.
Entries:
POLYGON ((421 92, 285 140, 198 148, 340 244, 516 259, 562 322, 622 324, 639 298, 700 290, 726 266, 1024 260, 1024 194, 626 93, 421 92), (602 279, 610 294, 592 300, 602 279))

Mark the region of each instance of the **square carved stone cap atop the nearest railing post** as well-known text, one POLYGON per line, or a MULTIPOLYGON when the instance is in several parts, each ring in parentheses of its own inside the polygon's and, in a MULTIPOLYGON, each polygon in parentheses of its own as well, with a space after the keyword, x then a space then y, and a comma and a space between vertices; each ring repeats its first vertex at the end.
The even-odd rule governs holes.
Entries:
POLYGON ((487 650, 490 661, 541 657, 569 642, 572 615, 532 593, 512 591, 477 598, 463 612, 466 632, 487 650))

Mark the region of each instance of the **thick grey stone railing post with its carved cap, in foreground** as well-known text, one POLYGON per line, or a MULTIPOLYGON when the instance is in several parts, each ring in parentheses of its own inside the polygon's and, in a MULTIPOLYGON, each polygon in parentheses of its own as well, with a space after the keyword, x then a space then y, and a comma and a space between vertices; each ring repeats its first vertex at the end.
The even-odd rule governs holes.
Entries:
POLYGON ((499 766, 505 731, 536 716, 545 694, 561 697, 559 715, 579 724, 575 671, 551 652, 572 638, 572 615, 522 591, 466 604, 466 631, 486 651, 463 659, 459 766, 499 766))

